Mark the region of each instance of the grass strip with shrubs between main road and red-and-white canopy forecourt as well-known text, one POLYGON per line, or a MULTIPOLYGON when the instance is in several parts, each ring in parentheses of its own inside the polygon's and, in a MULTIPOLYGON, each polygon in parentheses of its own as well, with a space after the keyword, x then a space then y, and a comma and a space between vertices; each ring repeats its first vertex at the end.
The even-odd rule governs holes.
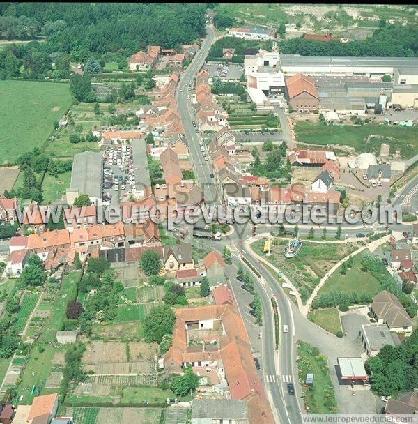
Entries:
POLYGON ((299 381, 309 407, 309 414, 336 414, 338 407, 335 400, 334 387, 330 379, 327 358, 320 351, 305 342, 297 342, 297 368, 299 381), (307 373, 314 374, 314 386, 304 387, 307 373))

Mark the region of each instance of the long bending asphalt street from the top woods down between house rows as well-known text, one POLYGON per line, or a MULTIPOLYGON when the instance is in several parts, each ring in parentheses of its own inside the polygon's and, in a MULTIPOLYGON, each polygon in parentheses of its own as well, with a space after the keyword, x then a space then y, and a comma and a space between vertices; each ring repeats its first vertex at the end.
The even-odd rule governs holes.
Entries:
POLYGON ((190 100, 187 100, 187 95, 189 94, 188 85, 193 82, 196 73, 201 70, 203 63, 205 63, 206 56, 208 56, 210 46, 215 41, 215 33, 212 27, 208 26, 206 29, 208 35, 203 41, 199 52, 197 52, 192 63, 190 63, 185 73, 180 77, 176 92, 176 100, 178 112, 180 113, 183 127, 185 128, 185 135, 189 142, 191 159, 194 165, 194 174, 205 195, 205 202, 206 204, 219 204, 219 195, 215 186, 215 181, 210 177, 212 169, 210 168, 209 161, 203 159, 203 153, 200 149, 201 146, 199 143, 202 141, 201 133, 197 133, 196 128, 194 128, 192 124, 192 121, 196 121, 192 103, 190 100))

